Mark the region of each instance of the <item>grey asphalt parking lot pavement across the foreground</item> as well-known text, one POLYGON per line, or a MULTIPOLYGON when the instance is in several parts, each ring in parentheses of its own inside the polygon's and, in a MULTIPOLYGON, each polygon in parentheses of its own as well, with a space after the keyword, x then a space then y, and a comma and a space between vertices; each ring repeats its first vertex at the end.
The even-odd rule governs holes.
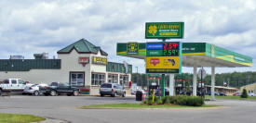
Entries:
POLYGON ((215 108, 78 109, 82 105, 140 103, 135 97, 24 96, 0 97, 0 112, 31 114, 73 123, 255 123, 256 102, 218 100, 215 108))

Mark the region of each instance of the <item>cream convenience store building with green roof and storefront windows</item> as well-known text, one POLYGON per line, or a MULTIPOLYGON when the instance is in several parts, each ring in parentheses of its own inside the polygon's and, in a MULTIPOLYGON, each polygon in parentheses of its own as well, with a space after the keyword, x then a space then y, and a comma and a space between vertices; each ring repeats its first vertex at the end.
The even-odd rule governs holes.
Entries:
POLYGON ((68 82, 90 95, 99 94, 101 83, 120 83, 129 91, 132 66, 108 62, 101 47, 81 39, 57 52, 57 59, 1 59, 0 80, 20 78, 31 83, 68 82))

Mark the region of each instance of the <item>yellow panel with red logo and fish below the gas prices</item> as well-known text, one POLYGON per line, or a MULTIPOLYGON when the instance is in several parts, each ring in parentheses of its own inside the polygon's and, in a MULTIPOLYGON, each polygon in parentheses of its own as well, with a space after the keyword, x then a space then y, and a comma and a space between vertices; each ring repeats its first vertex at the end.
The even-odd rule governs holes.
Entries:
POLYGON ((146 68, 180 68, 180 56, 147 56, 146 68))

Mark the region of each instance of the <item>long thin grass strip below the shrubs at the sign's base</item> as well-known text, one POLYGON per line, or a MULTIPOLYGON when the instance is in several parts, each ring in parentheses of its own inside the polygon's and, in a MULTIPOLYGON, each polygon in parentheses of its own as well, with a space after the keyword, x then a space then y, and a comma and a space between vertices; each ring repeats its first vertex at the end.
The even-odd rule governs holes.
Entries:
POLYGON ((216 107, 218 105, 185 106, 185 105, 141 105, 141 104, 111 104, 111 105, 84 105, 81 109, 91 108, 200 108, 216 107))

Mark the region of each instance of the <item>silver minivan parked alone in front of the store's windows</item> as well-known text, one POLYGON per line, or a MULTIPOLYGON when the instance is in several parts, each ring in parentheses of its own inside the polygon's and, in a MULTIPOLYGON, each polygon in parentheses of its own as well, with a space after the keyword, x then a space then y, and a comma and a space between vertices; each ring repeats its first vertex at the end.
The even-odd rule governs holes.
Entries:
POLYGON ((103 83, 100 87, 100 94, 101 96, 104 95, 111 95, 112 97, 115 97, 116 95, 120 95, 125 97, 126 91, 124 90, 124 87, 117 83, 103 83))

